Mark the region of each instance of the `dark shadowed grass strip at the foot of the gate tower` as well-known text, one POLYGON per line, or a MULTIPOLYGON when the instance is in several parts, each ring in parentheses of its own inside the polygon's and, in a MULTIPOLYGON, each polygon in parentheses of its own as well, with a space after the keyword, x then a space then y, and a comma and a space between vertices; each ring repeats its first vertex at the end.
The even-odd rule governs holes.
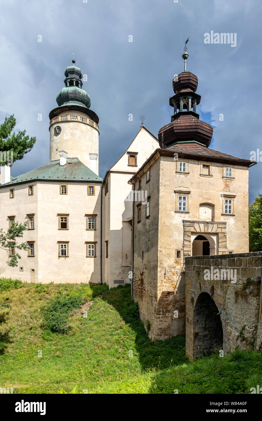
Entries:
POLYGON ((131 299, 131 285, 119 285, 107 289, 106 284, 92 285, 93 296, 101 298, 113 306, 125 323, 135 331, 134 355, 138 354, 143 370, 155 368, 162 370, 172 365, 187 362, 185 357, 185 336, 175 336, 165 341, 151 341, 148 338, 143 322, 140 320, 138 303, 131 299))

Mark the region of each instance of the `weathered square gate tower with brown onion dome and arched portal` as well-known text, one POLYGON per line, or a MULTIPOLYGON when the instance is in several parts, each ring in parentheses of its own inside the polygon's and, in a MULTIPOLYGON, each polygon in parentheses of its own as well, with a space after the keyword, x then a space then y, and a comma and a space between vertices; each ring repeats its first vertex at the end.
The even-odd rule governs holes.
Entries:
POLYGON ((252 163, 209 149, 213 129, 199 120, 197 85, 186 69, 175 77, 171 123, 160 128, 160 148, 130 180, 147 191, 146 204, 134 206, 132 289, 153 339, 185 333, 186 256, 249 251, 252 163))

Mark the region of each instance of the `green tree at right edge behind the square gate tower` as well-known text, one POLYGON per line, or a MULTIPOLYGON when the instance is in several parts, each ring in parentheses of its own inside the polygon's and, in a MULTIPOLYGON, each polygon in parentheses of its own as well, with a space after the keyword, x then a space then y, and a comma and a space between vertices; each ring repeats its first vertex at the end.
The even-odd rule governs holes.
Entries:
POLYGON ((249 205, 249 251, 262 250, 262 194, 249 205))

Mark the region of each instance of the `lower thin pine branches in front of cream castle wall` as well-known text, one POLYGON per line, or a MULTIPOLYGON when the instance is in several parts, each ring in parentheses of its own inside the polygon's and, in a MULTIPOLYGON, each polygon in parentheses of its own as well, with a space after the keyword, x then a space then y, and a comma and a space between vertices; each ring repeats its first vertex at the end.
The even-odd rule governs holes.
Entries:
POLYGON ((3 231, 3 228, 0 229, 0 248, 6 250, 8 255, 8 260, 6 263, 8 266, 17 266, 18 259, 21 259, 19 253, 16 250, 28 250, 28 245, 26 242, 21 244, 16 244, 16 239, 23 237, 24 231, 27 229, 27 223, 19 224, 14 222, 11 224, 10 228, 6 232, 3 231), (9 247, 15 247, 15 253, 13 256, 9 256, 9 247))

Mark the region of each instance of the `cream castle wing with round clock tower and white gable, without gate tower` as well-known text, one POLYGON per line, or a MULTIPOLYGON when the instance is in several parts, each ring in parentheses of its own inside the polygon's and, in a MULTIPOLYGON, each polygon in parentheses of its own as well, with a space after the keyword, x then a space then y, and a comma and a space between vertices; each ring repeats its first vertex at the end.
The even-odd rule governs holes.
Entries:
MULTIPOLYGON (((159 147, 143 125, 122 157, 98 176, 99 119, 82 89, 82 72, 66 68, 50 114, 50 162, 21 176, 1 167, 0 227, 27 223, 19 266, 3 276, 26 282, 131 282, 132 186, 128 180, 159 147)), ((9 248, 9 254, 16 247, 9 248)))

